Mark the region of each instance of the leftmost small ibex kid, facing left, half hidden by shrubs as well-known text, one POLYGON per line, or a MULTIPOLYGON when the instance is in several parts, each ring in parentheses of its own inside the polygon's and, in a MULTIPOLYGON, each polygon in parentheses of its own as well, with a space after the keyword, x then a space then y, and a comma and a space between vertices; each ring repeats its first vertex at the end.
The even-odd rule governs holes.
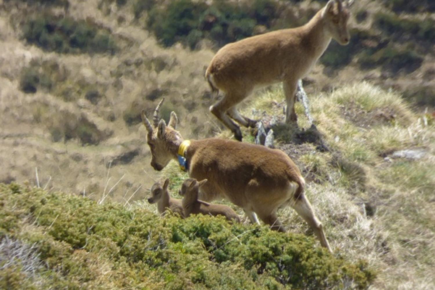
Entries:
POLYGON ((160 214, 164 215, 166 210, 172 210, 184 217, 183 206, 181 200, 172 198, 167 190, 169 179, 164 180, 163 185, 161 182, 156 182, 151 187, 151 197, 148 198, 149 203, 157 203, 157 210, 160 214))

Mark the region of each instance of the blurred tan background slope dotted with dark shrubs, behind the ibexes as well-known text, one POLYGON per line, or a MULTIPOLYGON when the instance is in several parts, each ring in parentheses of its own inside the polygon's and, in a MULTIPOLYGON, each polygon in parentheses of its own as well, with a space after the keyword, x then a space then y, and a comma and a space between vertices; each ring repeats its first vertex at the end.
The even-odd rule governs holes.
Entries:
MULTIPOLYGON (((143 198, 157 175, 140 110, 151 114, 166 97, 163 116, 176 110, 186 136, 214 136, 222 127, 208 112, 214 100, 203 78, 214 51, 300 25, 325 3, 194 2, 1 1, 0 181, 143 198)), ((360 0, 352 11, 351 44, 331 42, 305 79, 309 95, 368 80, 404 93, 418 110, 433 105, 431 2, 360 0)))

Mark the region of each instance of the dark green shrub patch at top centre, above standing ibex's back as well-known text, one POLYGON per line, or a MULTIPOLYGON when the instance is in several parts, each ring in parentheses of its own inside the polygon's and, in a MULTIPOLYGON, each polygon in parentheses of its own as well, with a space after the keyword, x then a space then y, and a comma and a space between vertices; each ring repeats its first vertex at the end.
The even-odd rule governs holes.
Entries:
POLYGON ((271 28, 279 15, 278 3, 271 0, 255 0, 252 3, 220 0, 214 1, 213 5, 176 0, 167 6, 147 5, 151 6, 147 28, 154 32, 157 39, 166 47, 181 41, 192 49, 204 38, 221 46, 264 32, 262 30, 271 28))

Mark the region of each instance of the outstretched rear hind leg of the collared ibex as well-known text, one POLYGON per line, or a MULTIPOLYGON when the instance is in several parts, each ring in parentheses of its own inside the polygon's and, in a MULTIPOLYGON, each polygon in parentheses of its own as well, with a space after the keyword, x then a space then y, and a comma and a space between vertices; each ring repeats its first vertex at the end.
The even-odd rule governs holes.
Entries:
POLYGON ((294 210, 296 210, 296 212, 313 229, 316 237, 320 240, 321 246, 327 248, 331 252, 331 247, 326 239, 322 224, 316 217, 313 207, 311 207, 311 203, 305 197, 305 194, 302 194, 297 200, 295 200, 295 202, 291 204, 291 207, 293 207, 294 210))

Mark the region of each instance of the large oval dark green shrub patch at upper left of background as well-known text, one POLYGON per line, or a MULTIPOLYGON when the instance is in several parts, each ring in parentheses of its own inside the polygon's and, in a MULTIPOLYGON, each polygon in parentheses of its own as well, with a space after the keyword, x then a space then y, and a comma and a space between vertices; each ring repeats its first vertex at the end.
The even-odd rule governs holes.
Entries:
POLYGON ((69 17, 40 15, 23 26, 24 38, 43 50, 58 53, 115 53, 114 39, 106 30, 69 17))

